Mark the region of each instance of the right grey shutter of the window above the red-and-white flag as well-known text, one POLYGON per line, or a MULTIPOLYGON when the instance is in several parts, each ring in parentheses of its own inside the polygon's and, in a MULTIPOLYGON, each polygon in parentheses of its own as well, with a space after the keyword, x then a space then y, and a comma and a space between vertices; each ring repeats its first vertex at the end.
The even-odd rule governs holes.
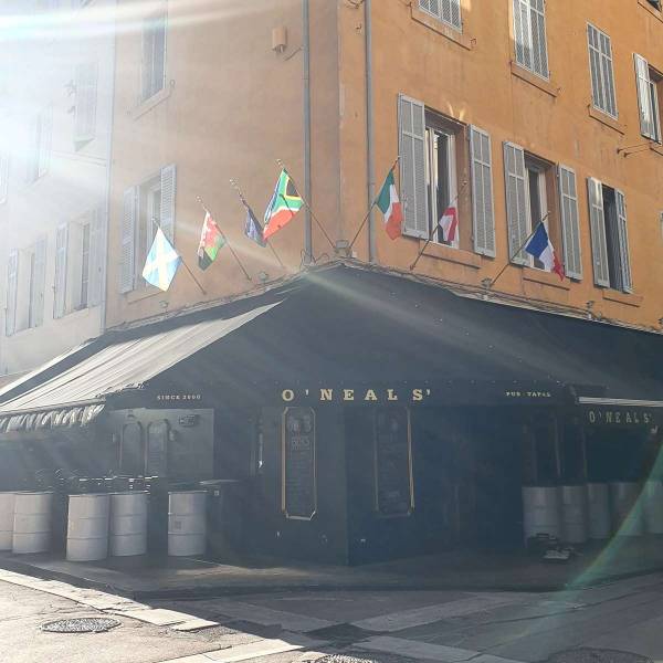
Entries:
POLYGON ((478 127, 470 127, 470 154, 474 251, 495 257, 495 208, 493 202, 491 137, 478 127))

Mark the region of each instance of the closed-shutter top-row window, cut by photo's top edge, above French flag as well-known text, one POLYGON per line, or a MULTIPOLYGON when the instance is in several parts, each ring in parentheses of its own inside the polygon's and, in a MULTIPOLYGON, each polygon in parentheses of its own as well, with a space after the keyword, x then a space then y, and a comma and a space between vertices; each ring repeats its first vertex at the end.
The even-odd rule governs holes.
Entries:
POLYGON ((544 0, 514 0, 516 62, 543 78, 549 77, 544 0))

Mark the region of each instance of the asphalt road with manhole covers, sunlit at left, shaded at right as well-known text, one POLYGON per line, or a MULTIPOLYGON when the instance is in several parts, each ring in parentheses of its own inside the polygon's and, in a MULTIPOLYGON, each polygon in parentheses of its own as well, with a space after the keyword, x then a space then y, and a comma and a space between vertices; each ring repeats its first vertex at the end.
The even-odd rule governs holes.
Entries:
POLYGON ((73 600, 46 593, 69 586, 8 578, 0 578, 1 663, 663 661, 663 575, 546 594, 303 592, 150 606, 70 588, 82 597, 73 600), (119 623, 105 633, 42 630, 80 617, 119 623), (215 623, 199 629, 198 619, 215 623))

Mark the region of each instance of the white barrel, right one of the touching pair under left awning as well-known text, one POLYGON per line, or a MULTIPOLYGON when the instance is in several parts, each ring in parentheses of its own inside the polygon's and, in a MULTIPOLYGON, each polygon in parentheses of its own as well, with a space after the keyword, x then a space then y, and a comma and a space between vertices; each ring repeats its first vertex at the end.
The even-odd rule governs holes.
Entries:
POLYGON ((109 547, 113 557, 147 552, 147 492, 110 495, 109 547))

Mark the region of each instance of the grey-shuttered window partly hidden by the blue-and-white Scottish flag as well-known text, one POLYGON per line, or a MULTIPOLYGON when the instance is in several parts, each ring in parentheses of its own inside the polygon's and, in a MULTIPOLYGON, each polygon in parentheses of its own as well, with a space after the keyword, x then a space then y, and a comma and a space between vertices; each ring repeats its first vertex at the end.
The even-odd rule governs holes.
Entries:
POLYGON ((146 285, 141 273, 157 229, 172 242, 175 235, 176 167, 166 166, 157 176, 124 193, 119 291, 128 293, 146 285))

